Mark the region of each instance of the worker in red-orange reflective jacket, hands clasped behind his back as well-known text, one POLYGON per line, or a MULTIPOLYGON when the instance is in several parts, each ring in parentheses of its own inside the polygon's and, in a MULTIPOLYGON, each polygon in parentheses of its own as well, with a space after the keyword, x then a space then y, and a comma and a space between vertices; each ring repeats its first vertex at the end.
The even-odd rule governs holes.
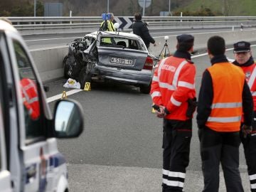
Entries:
POLYGON ((150 92, 157 117, 164 117, 163 191, 183 190, 196 109, 196 67, 191 61, 194 38, 182 34, 177 41, 174 55, 159 62, 150 92))

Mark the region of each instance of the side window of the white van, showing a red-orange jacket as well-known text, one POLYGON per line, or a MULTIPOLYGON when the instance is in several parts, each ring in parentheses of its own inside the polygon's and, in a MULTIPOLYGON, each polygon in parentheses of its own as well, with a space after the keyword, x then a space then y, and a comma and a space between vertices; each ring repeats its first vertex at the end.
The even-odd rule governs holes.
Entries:
POLYGON ((38 94, 38 82, 33 72, 31 61, 20 43, 14 41, 14 50, 16 55, 20 91, 23 100, 24 119, 26 127, 26 139, 43 137, 43 128, 41 126, 41 107, 38 94))

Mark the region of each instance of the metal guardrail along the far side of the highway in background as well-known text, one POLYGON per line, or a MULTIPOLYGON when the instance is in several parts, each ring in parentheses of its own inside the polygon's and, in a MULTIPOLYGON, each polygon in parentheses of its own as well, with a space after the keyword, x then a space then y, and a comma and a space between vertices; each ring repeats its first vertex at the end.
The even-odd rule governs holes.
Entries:
MULTIPOLYGON (((116 17, 129 18, 133 17, 116 17)), ((80 33, 96 31, 100 28, 100 16, 87 17, 9 17, 21 34, 38 33, 80 33)), ((124 19, 122 19, 124 21, 124 19)), ((149 24, 150 29, 166 28, 223 28, 256 26, 256 16, 144 16, 143 21, 149 24)), ((124 21, 125 22, 125 21, 124 21)), ((124 31, 131 31, 129 26, 124 31)))

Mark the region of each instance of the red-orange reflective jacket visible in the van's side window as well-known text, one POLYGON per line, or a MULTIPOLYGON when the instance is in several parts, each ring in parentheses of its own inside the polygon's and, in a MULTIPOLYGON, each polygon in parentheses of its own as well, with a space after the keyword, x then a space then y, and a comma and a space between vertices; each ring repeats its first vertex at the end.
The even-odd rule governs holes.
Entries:
POLYGON ((40 116, 40 107, 36 84, 28 78, 23 78, 20 83, 23 105, 25 105, 26 109, 28 110, 28 114, 30 115, 31 119, 38 119, 40 116))

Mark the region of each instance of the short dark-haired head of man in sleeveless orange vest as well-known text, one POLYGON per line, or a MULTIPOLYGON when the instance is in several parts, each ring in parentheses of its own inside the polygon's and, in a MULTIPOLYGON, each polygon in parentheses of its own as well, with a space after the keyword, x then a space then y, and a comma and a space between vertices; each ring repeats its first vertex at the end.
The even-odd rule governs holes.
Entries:
POLYGON ((225 40, 220 36, 212 36, 208 39, 207 48, 212 55, 224 55, 225 40))

